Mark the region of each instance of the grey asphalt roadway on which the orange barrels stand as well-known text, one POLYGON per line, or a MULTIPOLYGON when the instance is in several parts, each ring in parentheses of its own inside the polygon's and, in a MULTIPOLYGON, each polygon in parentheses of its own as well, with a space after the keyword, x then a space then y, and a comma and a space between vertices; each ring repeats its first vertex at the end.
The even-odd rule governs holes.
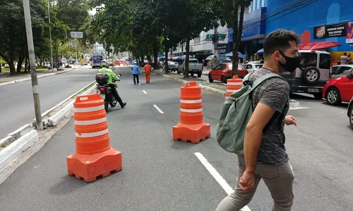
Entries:
MULTIPOLYGON (((112 147, 123 155, 123 170, 90 184, 69 176, 66 156, 75 151, 71 120, 0 185, 1 210, 215 210, 227 194, 194 153, 201 153, 229 186, 235 186, 237 159, 215 142, 224 97, 203 91, 210 139, 198 144, 172 141, 181 84, 152 74, 150 84, 138 86, 127 68, 119 73, 119 94, 128 104, 109 108, 107 121, 112 147)), ((292 210, 352 210, 353 131, 347 105, 292 98, 303 107, 289 110, 298 126, 285 129, 295 174, 292 210)), ((249 208, 271 206, 261 181, 249 208)))

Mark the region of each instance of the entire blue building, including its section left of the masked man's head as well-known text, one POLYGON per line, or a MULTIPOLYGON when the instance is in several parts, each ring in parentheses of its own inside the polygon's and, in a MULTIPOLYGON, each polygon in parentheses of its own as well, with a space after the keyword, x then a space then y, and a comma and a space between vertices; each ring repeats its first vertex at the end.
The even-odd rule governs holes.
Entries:
MULTIPOLYGON (((327 49, 337 60, 343 52, 353 55, 352 0, 254 0, 244 15, 239 51, 248 58, 263 48, 266 34, 283 28, 294 30, 302 44, 335 41, 341 46, 327 49)), ((229 29, 229 50, 232 50, 229 29)))

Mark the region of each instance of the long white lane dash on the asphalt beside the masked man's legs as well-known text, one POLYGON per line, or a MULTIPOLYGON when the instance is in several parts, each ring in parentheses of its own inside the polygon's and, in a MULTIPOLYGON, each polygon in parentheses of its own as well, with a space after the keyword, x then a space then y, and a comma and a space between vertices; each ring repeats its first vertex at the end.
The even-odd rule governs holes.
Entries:
MULTIPOLYGON (((223 179, 223 177, 215 170, 215 168, 210 165, 210 162, 206 160, 206 158, 201 154, 201 153, 195 153, 196 157, 200 162, 203 164, 203 166, 210 172, 210 174, 215 178, 215 180, 220 184, 220 186, 225 190, 225 192, 229 195, 230 193, 233 193, 233 188, 227 184, 227 181, 223 179)), ((241 208, 241 211, 251 211, 248 206, 245 206, 241 208)))

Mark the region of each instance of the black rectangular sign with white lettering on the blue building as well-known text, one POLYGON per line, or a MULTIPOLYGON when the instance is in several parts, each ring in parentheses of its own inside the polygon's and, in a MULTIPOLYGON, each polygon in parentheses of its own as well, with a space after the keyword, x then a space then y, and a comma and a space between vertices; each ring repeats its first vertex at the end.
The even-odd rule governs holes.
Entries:
POLYGON ((329 37, 346 37, 347 23, 335 25, 323 25, 313 28, 313 39, 325 39, 329 37))

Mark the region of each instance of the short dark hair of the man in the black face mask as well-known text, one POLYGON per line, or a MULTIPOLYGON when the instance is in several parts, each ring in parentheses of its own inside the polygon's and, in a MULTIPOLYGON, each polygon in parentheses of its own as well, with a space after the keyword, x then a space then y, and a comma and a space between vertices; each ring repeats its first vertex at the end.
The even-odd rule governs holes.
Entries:
POLYGON ((264 56, 271 56, 275 51, 286 51, 290 47, 289 41, 295 41, 298 44, 298 34, 289 30, 275 30, 271 32, 263 41, 264 56))

